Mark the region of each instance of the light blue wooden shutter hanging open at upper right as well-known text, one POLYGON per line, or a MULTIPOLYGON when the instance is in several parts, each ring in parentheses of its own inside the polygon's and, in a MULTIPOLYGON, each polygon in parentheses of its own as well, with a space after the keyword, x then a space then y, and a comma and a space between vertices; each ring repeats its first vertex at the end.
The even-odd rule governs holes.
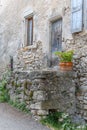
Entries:
POLYGON ((72 11, 72 33, 82 31, 82 7, 83 0, 71 0, 72 11))

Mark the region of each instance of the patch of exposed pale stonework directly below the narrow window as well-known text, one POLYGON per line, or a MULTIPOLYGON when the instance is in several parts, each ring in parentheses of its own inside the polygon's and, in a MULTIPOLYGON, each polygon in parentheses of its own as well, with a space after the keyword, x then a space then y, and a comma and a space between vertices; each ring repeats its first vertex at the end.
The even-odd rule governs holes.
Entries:
POLYGON ((18 50, 16 62, 14 62, 14 70, 37 70, 46 66, 44 63, 44 55, 42 52, 42 43, 39 41, 35 47, 24 47, 18 50))

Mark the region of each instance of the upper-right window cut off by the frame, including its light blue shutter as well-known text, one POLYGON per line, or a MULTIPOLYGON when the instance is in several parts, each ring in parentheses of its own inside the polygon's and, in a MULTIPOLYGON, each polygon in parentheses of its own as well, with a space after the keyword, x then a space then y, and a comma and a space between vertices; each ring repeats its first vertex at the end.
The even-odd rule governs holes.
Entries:
POLYGON ((72 33, 87 29, 87 0, 71 0, 72 33))

